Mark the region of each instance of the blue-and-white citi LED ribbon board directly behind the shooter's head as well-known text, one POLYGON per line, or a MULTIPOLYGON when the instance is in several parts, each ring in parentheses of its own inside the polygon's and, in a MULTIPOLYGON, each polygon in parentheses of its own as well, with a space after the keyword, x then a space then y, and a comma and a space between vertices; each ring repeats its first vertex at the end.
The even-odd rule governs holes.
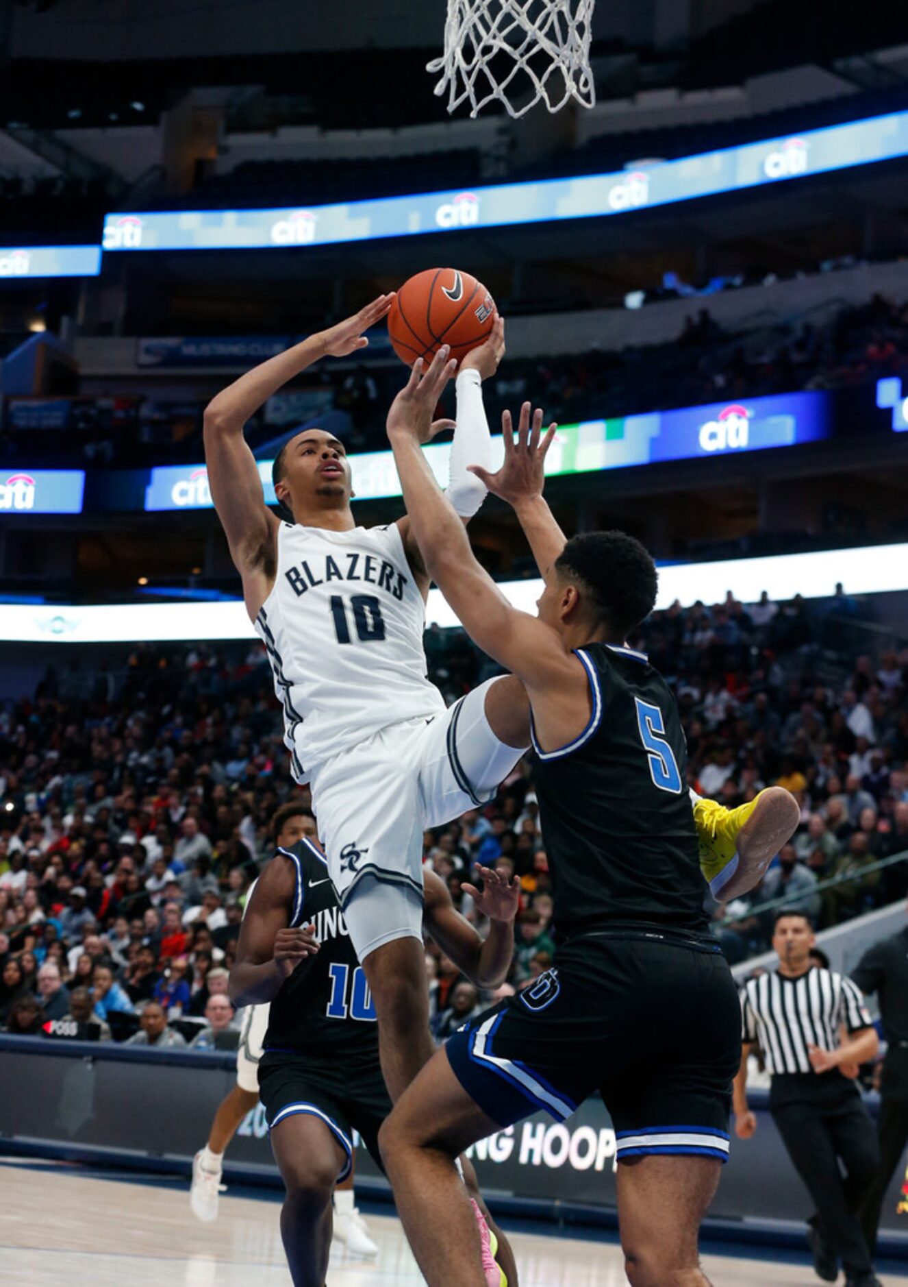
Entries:
MULTIPOLYGON (((772 447, 795 447, 830 436, 830 396, 824 393, 779 394, 743 403, 711 403, 679 411, 592 420, 558 430, 545 459, 549 477, 625 468, 697 457, 741 454, 772 447)), ((493 438, 493 468, 504 457, 500 435, 493 438)), ((448 483, 450 445, 424 448, 441 486, 448 483)), ((259 462, 266 505, 277 505, 271 461, 259 462)), ((364 452, 350 457, 358 501, 400 495, 392 452, 364 452)), ((145 489, 145 510, 207 510, 212 507, 203 465, 153 468, 145 489)))

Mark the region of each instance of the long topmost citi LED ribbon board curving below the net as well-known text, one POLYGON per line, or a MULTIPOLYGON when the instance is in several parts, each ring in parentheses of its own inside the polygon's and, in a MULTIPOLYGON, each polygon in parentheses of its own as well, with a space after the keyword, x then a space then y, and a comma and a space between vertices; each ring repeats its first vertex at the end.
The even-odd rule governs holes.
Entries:
POLYGON ((111 214, 105 251, 274 250, 625 215, 908 156, 908 112, 615 174, 329 206, 111 214))

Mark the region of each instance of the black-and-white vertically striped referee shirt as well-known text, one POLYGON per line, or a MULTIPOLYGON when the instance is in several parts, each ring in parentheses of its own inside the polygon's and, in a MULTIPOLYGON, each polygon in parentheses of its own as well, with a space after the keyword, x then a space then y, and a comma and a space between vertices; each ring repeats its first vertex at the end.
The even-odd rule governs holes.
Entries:
POLYGON ((797 978, 777 972, 749 979, 741 988, 742 1040, 756 1041, 767 1071, 812 1072, 808 1046, 839 1048, 839 1030, 869 1028, 860 990, 835 970, 814 968, 797 978))

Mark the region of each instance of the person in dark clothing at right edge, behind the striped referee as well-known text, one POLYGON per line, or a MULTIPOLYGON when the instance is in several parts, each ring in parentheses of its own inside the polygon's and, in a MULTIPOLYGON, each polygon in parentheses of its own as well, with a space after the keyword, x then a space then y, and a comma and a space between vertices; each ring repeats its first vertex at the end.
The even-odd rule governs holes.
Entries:
POLYGON ((876 992, 889 1042, 877 1122, 880 1170, 862 1212, 864 1238, 872 1255, 886 1189, 908 1143, 908 925, 868 947, 851 978, 862 992, 876 992))

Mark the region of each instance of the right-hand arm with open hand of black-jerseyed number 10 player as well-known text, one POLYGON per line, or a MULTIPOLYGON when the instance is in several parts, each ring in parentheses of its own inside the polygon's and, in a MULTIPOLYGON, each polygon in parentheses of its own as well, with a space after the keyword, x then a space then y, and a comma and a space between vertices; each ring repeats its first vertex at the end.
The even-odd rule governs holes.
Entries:
POLYGON ((430 869, 423 870, 426 910, 423 924, 428 936, 450 956, 457 968, 477 987, 498 987, 507 978, 514 955, 514 916, 520 906, 520 880, 489 867, 478 867, 482 892, 463 888, 489 918, 485 938, 454 906, 448 885, 430 869))

